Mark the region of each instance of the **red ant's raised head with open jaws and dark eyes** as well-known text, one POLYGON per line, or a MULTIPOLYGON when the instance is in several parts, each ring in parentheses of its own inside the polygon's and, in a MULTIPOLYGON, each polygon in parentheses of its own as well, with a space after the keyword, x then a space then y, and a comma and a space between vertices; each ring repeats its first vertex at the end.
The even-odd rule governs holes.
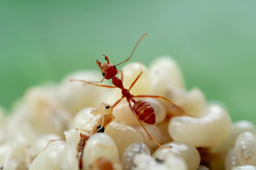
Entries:
POLYGON ((111 79, 112 77, 117 75, 117 68, 116 68, 116 66, 114 66, 113 64, 111 64, 109 62, 107 55, 103 55, 103 56, 105 56, 105 60, 107 60, 107 62, 104 62, 101 65, 101 62, 99 62, 97 60, 96 63, 99 66, 99 68, 101 68, 101 73, 102 73, 103 77, 105 79, 111 79))

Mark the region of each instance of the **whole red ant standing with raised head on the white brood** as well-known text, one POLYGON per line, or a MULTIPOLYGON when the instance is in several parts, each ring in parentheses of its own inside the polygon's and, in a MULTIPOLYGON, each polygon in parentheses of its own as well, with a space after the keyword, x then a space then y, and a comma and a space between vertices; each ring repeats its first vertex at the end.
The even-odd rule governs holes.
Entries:
POLYGON ((144 128, 144 130, 146 131, 148 137, 150 137, 151 140, 153 140, 158 146, 160 146, 161 148, 164 148, 162 145, 160 145, 157 141, 155 141, 148 133, 148 131, 146 130, 146 128, 143 126, 143 124, 141 123, 141 121, 143 121, 146 124, 155 124, 155 111, 154 108, 146 101, 143 100, 139 100, 139 101, 135 101, 135 97, 153 97, 153 98, 161 98, 166 100, 168 103, 170 103, 172 106, 174 106, 175 108, 181 110, 183 113, 185 113, 184 110, 182 110, 179 106, 176 106, 175 104, 173 104, 173 102, 169 101, 168 99, 166 99, 163 96, 157 96, 157 95, 131 95, 130 94, 130 89, 132 88, 132 86, 134 86, 134 84, 137 82, 137 80, 139 79, 139 77, 141 76, 141 74, 143 73, 142 71, 139 73, 139 75, 136 77, 136 79, 132 82, 131 86, 129 89, 124 88, 123 86, 123 76, 122 76, 122 72, 121 72, 121 79, 116 77, 117 75, 117 68, 116 66, 123 64, 124 62, 127 62, 128 60, 130 60, 130 58, 132 57, 132 54, 134 53, 135 49, 137 48, 139 42, 142 40, 142 38, 144 38, 147 35, 147 33, 145 33, 144 35, 141 36, 141 38, 139 39, 139 41, 137 42, 135 48, 133 49, 130 57, 128 59, 126 59, 125 61, 113 65, 109 62, 108 60, 108 56, 107 55, 103 55, 105 56, 105 60, 107 62, 101 64, 101 62, 99 62, 98 60, 96 60, 97 65, 99 66, 99 68, 101 68, 101 73, 103 75, 103 79, 100 82, 88 82, 85 80, 81 80, 81 79, 71 79, 70 81, 78 81, 78 82, 83 82, 86 84, 92 84, 94 86, 101 86, 101 87, 107 87, 107 88, 120 88, 121 89, 121 93, 122 93, 122 97, 121 99, 119 99, 114 105, 112 105, 112 107, 114 108, 124 97, 126 97, 127 102, 129 103, 129 107, 130 110, 132 110, 132 113, 135 115, 135 117, 138 119, 139 123, 141 124, 141 126, 144 128), (109 85, 101 85, 101 84, 97 84, 97 83, 101 83, 103 82, 104 79, 112 79, 112 84, 114 86, 109 86, 109 85), (133 106, 130 104, 130 101, 133 104, 133 106))

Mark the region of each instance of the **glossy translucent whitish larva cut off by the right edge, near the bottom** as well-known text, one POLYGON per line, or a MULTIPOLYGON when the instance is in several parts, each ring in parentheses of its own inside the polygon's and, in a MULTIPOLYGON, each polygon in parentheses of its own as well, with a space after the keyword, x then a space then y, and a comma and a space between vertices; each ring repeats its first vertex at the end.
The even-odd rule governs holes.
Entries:
POLYGON ((256 137, 251 132, 242 132, 236 139, 236 156, 241 165, 256 166, 256 137))

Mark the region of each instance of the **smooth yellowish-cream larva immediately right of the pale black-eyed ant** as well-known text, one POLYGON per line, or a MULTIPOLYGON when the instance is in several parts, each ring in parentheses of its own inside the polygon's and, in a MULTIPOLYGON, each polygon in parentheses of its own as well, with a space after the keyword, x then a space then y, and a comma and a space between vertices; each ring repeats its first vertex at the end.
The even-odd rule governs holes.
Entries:
POLYGON ((130 144, 144 141, 142 135, 135 128, 118 122, 112 122, 105 129, 104 133, 108 134, 115 141, 119 155, 122 155, 130 144))

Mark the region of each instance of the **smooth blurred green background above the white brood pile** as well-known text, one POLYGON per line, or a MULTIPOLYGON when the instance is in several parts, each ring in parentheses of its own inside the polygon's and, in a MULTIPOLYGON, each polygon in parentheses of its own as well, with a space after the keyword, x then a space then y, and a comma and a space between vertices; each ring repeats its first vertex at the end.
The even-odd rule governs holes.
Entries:
POLYGON ((148 65, 159 55, 180 64, 187 88, 220 100, 233 121, 256 122, 255 0, 0 0, 0 104, 29 86, 97 69, 108 54, 148 65))

